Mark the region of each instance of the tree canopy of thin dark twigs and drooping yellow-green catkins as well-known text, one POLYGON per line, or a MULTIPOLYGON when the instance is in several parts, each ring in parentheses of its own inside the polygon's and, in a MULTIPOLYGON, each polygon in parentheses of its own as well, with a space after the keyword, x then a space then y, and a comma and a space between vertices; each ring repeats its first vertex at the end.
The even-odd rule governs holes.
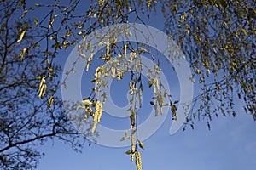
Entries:
MULTIPOLYGON (((34 145, 45 144, 47 139, 63 140, 74 150, 84 144, 61 100, 60 88, 66 86, 66 79, 60 81, 63 68, 56 64, 57 59, 66 59, 63 54, 76 45, 79 57, 87 61, 85 71, 90 71, 93 60, 98 59, 100 63, 91 77, 95 88, 87 89, 91 91, 90 96, 85 97, 84 105, 71 108, 85 109, 85 118, 92 118, 85 137, 96 135, 96 124, 100 122, 107 97, 106 79, 121 81, 125 74, 131 75, 127 84, 131 94, 128 110, 131 133, 124 134, 125 139, 131 140, 131 149, 126 153, 131 155, 131 160, 136 157, 137 169, 142 169, 139 147, 144 146, 137 139, 137 108, 143 107, 143 88, 153 88, 154 96, 148 105, 154 107, 156 116, 162 113, 163 107, 168 107, 173 120, 177 119, 178 101, 172 101, 172 94, 166 92, 160 81, 159 55, 148 44, 116 42, 115 34, 99 38, 96 44, 90 41, 80 44, 80 41, 85 42, 88 35, 105 26, 129 23, 146 26, 145 20, 154 14, 163 15, 163 31, 183 51, 192 71, 190 81, 201 89, 201 94, 193 99, 185 125, 193 128, 193 120, 203 118, 210 129, 212 116, 240 114, 234 109, 236 98, 256 120, 256 4, 252 0, 86 3, 2 0, 0 3, 0 167, 3 169, 35 168, 42 153, 34 145), (104 48, 96 58, 98 46, 104 48), (154 62, 154 69, 146 69, 148 84, 142 81, 143 54, 154 62)), ((127 37, 130 33, 122 32, 127 37)), ((67 71, 67 77, 73 77, 72 74, 75 74, 73 68, 67 71)))

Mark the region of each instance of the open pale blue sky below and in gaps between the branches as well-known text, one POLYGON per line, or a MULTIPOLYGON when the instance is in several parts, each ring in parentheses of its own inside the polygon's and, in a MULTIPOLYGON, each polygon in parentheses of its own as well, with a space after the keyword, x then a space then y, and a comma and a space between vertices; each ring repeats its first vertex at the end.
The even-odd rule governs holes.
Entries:
MULTIPOLYGON (((151 16, 145 19, 149 26, 162 29, 161 16, 151 16)), ((66 54, 65 54, 66 55, 66 54)), ((68 56, 68 53, 67 53, 68 56)), ((63 58, 62 58, 63 59, 63 58)), ((63 64, 65 60, 61 60, 63 64)), ((177 80, 173 75, 171 65, 165 65, 167 75, 170 75, 170 83, 177 80), (168 67, 169 70, 168 70, 168 67), (171 72, 171 73, 170 73, 171 72)), ((196 85, 196 84, 195 84, 196 85)), ((124 87, 118 82, 112 87, 113 96, 124 93, 124 87)), ((174 98, 178 98, 177 82, 172 83, 171 92, 174 98)), ((126 92, 125 92, 126 93, 126 92)), ((120 95, 121 96, 121 95, 120 95)), ((117 105, 124 105, 123 97, 115 97, 117 105)), ((145 99, 147 101, 147 99, 145 99)), ((142 150, 144 170, 240 170, 255 169, 256 167, 256 123, 251 115, 244 113, 242 103, 236 100, 236 118, 219 116, 211 122, 211 131, 207 129, 204 121, 195 121, 195 130, 189 127, 182 132, 180 129, 174 135, 169 135, 172 124, 171 115, 167 116, 164 124, 153 136, 144 141, 145 150, 142 150)), ((146 109, 151 109, 149 104, 146 109)), ((104 118, 104 117, 103 117, 104 118)), ((107 117, 106 122, 113 119, 107 117)), ((122 125, 119 125, 122 126, 122 125)), ((110 126, 111 127, 111 126, 110 126)), ((89 147, 84 145, 82 154, 75 153, 68 145, 57 140, 49 141, 44 146, 38 146, 44 151, 45 156, 40 160, 37 170, 79 170, 79 169, 136 169, 135 162, 130 161, 130 156, 125 155, 125 148, 109 148, 97 144, 89 147)))

